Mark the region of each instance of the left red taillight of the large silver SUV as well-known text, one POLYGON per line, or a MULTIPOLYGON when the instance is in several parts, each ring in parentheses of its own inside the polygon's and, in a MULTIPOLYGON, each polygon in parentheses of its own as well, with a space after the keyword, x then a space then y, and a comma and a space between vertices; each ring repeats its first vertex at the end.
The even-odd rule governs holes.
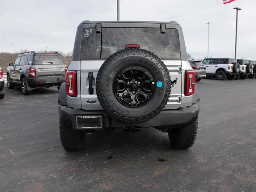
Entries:
POLYGON ((66 93, 69 96, 76 97, 76 72, 67 71, 66 72, 66 93))

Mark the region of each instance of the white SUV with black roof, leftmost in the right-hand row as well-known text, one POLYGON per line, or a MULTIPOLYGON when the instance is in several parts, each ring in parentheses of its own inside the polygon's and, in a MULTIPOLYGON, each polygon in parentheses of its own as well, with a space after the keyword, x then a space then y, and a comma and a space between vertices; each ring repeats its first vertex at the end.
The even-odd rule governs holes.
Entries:
POLYGON ((236 59, 232 58, 205 58, 202 63, 206 67, 206 77, 216 77, 218 80, 233 80, 240 71, 236 59))

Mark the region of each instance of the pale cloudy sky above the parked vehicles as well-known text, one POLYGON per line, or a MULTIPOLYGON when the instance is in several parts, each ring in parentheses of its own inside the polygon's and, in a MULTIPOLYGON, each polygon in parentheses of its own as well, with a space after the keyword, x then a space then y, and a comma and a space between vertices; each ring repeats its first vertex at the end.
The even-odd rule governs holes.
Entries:
MULTIPOLYGON (((83 20, 116 20, 116 0, 0 0, 0 52, 73 50, 76 28, 83 20)), ((176 21, 187 52, 234 58, 236 10, 237 58, 256 60, 256 0, 120 0, 120 20, 176 21)))

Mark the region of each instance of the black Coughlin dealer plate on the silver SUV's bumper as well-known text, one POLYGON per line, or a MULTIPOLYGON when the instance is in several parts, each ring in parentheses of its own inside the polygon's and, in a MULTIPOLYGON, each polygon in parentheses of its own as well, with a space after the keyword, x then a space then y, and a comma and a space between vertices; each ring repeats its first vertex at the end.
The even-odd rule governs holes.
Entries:
POLYGON ((102 116, 81 115, 76 116, 76 128, 78 129, 102 129, 102 116))

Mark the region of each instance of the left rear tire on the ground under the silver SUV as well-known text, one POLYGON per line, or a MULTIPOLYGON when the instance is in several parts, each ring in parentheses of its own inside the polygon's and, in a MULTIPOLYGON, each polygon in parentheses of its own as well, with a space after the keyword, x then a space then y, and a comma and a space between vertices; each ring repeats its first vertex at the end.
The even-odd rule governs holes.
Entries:
POLYGON ((73 130, 60 118, 60 141, 67 151, 80 151, 85 146, 85 132, 73 130))

